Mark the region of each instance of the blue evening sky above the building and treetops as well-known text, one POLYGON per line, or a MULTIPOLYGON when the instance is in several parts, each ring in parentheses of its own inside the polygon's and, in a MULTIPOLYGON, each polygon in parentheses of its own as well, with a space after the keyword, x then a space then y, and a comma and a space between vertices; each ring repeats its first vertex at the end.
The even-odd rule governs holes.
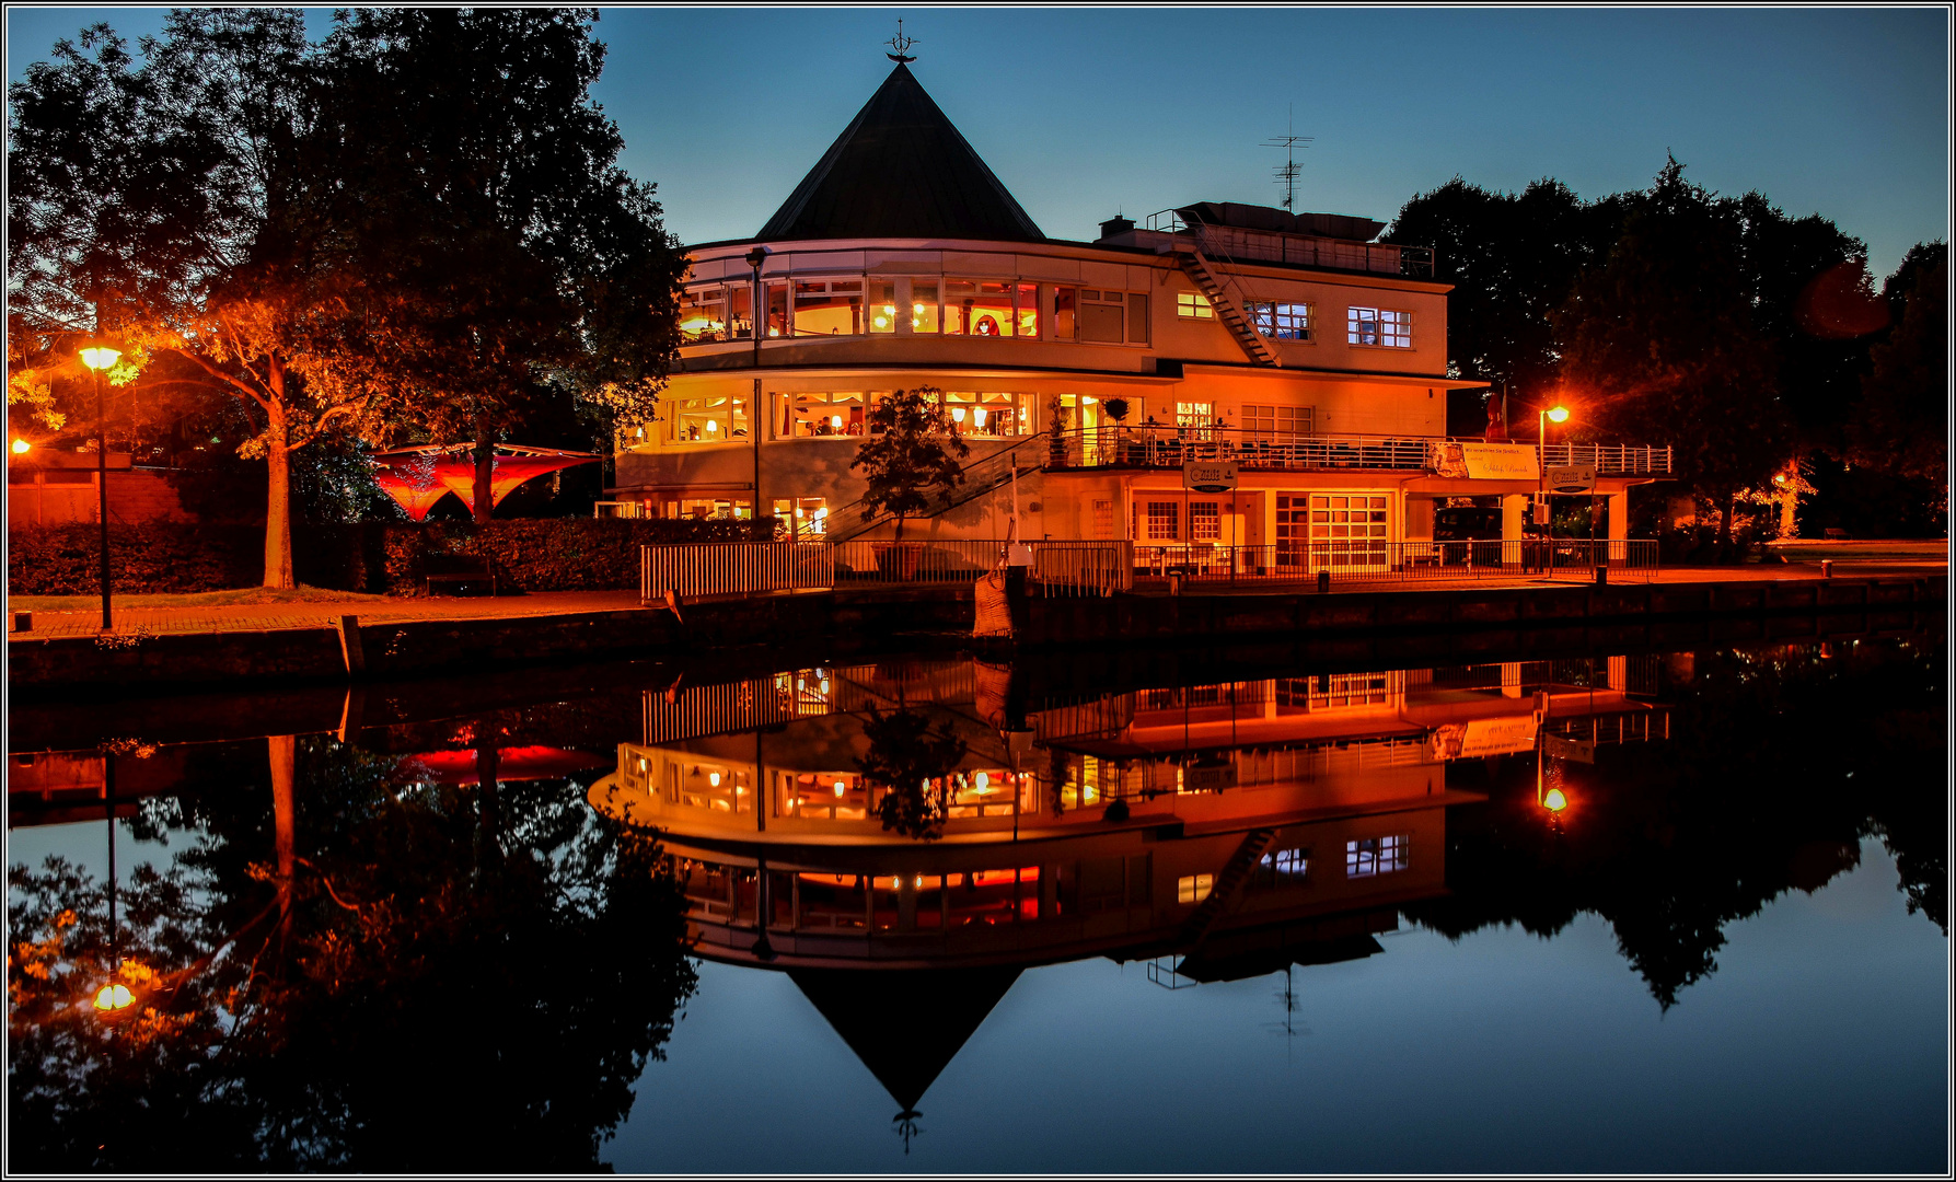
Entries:
MULTIPOLYGON (((8 76, 94 20, 10 8, 8 76)), ((599 98, 626 168, 702 243, 755 233, 890 68, 911 67, 1052 237, 1197 200, 1277 204, 1258 147, 1295 129, 1299 207, 1391 219, 1453 174, 1641 188, 1676 153, 1870 249, 1948 237, 1948 14, 1886 10, 606 8, 599 98)), ((329 10, 307 10, 323 31, 329 10)))

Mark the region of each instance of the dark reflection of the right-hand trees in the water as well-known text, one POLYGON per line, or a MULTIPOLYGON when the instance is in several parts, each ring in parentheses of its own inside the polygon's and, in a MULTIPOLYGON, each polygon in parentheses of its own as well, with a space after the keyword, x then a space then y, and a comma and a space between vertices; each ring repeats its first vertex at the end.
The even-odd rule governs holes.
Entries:
POLYGON ((1447 820, 1445 898, 1404 908, 1459 937, 1492 924, 1555 935, 1578 914, 1665 1010, 1717 971, 1725 928, 1788 890, 1895 859, 1909 912, 1948 933, 1948 681, 1936 642, 1790 644, 1684 654, 1670 740, 1563 765, 1571 806, 1547 822, 1532 761, 1457 763, 1489 793, 1447 820), (1526 781, 1526 783, 1524 783, 1526 781))

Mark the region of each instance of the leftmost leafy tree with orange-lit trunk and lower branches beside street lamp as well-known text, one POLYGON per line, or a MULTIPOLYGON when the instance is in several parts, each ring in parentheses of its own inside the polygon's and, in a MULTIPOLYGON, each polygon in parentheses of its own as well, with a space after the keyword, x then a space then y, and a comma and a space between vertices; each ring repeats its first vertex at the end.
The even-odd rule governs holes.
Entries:
POLYGON ((303 20, 176 10, 143 59, 92 25, 8 88, 8 321, 61 352, 115 337, 123 382, 174 354, 260 413, 241 452, 268 470, 264 583, 289 587, 291 452, 358 421, 383 380, 358 284, 274 233, 307 182, 303 20))

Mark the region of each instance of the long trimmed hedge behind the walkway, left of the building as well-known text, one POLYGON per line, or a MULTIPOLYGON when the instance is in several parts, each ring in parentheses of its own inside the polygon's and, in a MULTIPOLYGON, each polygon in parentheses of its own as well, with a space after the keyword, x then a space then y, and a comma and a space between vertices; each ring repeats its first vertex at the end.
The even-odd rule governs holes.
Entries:
MULTIPOLYGON (((98 526, 8 530, 10 595, 92 595, 100 589, 98 526)), ((505 587, 618 591, 638 587, 638 548, 773 536, 773 521, 618 521, 550 517, 475 523, 295 523, 299 583, 340 591, 419 595, 428 554, 477 554, 505 587)), ((121 595, 227 591, 264 581, 264 528, 231 524, 110 524, 110 571, 121 595)))

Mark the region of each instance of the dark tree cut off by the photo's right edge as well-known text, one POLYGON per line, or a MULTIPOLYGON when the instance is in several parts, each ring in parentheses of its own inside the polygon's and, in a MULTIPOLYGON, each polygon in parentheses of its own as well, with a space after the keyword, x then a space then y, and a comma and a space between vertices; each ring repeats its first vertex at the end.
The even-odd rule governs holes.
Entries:
POLYGON ((1925 479, 1948 497, 1948 245, 1909 250, 1886 284, 1899 303, 1893 333, 1870 352, 1872 370, 1848 427, 1848 456, 1889 476, 1925 479))

